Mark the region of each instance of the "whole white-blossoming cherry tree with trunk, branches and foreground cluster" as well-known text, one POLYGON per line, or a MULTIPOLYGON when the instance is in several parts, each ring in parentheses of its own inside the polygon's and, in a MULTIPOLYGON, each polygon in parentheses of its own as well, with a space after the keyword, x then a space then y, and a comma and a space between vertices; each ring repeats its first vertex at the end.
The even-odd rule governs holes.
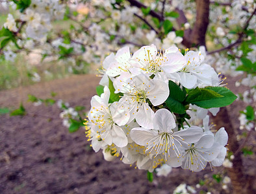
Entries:
MULTIPOLYGON (((0 2, 12 13, 0 31, 1 60, 36 50, 41 62, 68 61, 71 72, 84 64, 98 67, 102 79, 84 123, 94 151, 149 172, 162 165, 201 171, 208 162, 222 166, 228 134, 235 157, 231 182, 235 192, 248 193, 241 146, 225 109, 237 96, 225 87, 223 74, 240 75, 237 87, 250 87, 240 95, 248 106, 239 119, 241 129, 252 131, 254 1, 0 2), (68 27, 55 28, 57 20, 68 27), (216 133, 208 113, 219 115, 216 133)), ((70 131, 83 125, 69 105, 60 107, 70 131)))

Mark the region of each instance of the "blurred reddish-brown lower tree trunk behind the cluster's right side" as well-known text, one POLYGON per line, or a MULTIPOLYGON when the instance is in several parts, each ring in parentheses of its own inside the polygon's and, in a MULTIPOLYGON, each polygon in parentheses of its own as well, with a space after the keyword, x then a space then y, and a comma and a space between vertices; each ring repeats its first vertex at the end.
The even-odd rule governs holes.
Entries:
MULTIPOLYGON (((220 112, 217 114, 217 116, 212 117, 212 120, 214 121, 214 124, 216 124, 217 129, 220 129, 220 127, 225 127, 225 131, 227 131, 227 134, 229 135, 227 147, 229 151, 232 151, 233 153, 235 153, 239 147, 239 144, 237 142, 237 133, 233 128, 233 125, 229 118, 229 113, 227 111, 227 108, 222 107, 220 109, 220 112)), ((244 167, 242 164, 242 157, 240 152, 237 153, 237 155, 235 155, 235 158, 232 160, 232 162, 233 162, 233 167, 227 168, 227 173, 231 178, 233 193, 235 194, 251 193, 249 188, 251 181, 248 180, 246 175, 244 175, 244 167)))

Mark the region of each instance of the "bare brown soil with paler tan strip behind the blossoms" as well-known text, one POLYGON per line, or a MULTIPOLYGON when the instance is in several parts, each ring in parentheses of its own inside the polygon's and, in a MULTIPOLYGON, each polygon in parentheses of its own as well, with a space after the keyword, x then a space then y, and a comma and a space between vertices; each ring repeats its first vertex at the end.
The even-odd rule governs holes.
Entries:
MULTIPOLYGON (((84 105, 88 111, 98 83, 94 75, 73 76, 0 92, 0 107, 16 109, 23 102, 29 112, 23 117, 0 115, 0 193, 172 193, 181 183, 195 186, 200 179, 225 171, 208 167, 192 173, 176 168, 167 178, 155 175, 148 182, 146 171, 118 159, 107 162, 101 152, 90 149, 84 129, 68 133, 57 105, 34 107, 27 102, 27 94, 49 98, 53 91, 56 99, 84 105)), ((232 80, 230 87, 236 90, 232 80)), ((232 116, 237 118, 242 106, 238 102, 229 106, 232 116)), ((238 127, 238 120, 234 124, 238 127)), ((254 156, 246 160, 247 171, 253 169, 253 160, 254 156)), ((232 192, 214 180, 210 186, 212 193, 232 192)))

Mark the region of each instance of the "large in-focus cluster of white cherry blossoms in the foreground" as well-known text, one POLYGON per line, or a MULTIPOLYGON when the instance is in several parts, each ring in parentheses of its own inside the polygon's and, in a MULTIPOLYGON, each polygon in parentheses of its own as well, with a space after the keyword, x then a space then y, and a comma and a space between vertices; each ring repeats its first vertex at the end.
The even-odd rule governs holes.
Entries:
MULTIPOLYGON (((169 81, 187 90, 222 83, 200 52, 186 49, 183 55, 177 47, 159 51, 150 45, 132 55, 123 47, 107 56, 99 71, 103 92, 92 97, 85 122, 94 151, 102 149, 106 160, 120 156, 123 163, 150 172, 162 164, 191 171, 205 169, 207 162, 222 165, 225 129, 212 133, 209 120, 203 128, 188 122, 180 125, 178 114, 166 105, 173 92, 169 81)), ((204 110, 201 118, 207 115, 204 110)), ((218 109, 210 111, 216 114, 218 109)))

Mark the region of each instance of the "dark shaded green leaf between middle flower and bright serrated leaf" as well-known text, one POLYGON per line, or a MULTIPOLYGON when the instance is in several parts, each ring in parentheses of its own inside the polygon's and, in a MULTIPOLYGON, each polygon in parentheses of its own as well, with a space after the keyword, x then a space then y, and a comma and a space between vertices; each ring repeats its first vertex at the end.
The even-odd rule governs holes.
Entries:
POLYGON ((186 91, 182 91, 181 88, 173 81, 169 81, 169 91, 170 94, 166 100, 168 109, 173 113, 185 114, 186 111, 183 101, 186 98, 186 91))

